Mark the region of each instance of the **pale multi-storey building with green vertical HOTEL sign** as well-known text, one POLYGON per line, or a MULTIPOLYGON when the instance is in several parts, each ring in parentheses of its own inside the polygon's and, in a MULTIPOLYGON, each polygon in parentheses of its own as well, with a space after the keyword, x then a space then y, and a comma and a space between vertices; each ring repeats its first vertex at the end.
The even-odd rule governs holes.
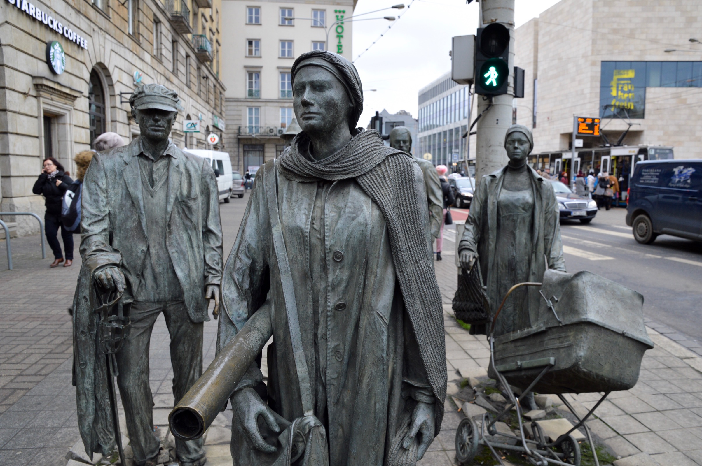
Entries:
POLYGON ((225 144, 234 170, 257 170, 282 153, 293 114, 291 67, 317 48, 352 60, 357 0, 223 0, 227 27, 225 144), (233 59, 233 60, 232 60, 233 59))

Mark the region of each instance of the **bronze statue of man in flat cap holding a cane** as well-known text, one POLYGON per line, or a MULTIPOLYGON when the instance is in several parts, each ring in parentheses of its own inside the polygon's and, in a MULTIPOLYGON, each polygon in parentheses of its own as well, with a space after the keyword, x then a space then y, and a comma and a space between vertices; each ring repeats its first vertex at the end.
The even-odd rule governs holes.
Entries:
MULTIPOLYGON (((159 455, 149 385, 154 322, 164 314, 178 402, 202 373, 208 300, 215 300, 214 317, 219 306, 223 259, 217 182, 206 159, 184 153, 168 139, 177 101, 176 92, 163 85, 137 88, 129 103, 139 137, 95 154, 83 188, 83 267, 74 299, 79 427, 86 451, 112 448, 111 416, 103 406, 105 362, 94 349, 93 310, 96 296, 121 295, 131 329, 117 353, 117 385, 137 465, 155 465, 159 455)), ((203 465, 202 440, 176 440, 176 456, 181 465, 203 465)))

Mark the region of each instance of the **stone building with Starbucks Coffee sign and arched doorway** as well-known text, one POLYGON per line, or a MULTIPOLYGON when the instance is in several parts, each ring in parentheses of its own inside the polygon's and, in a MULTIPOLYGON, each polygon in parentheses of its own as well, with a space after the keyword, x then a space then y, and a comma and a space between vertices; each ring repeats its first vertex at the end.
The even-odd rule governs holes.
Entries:
MULTIPOLYGON (((224 125, 221 0, 2 0, 0 3, 0 210, 44 214, 32 194, 42 160, 74 174, 75 153, 102 132, 139 134, 128 103, 144 83, 174 89, 171 137, 205 148, 224 125), (58 45, 57 45, 58 44, 58 45), (185 133, 185 120, 199 133, 185 133)), ((20 235, 37 232, 27 217, 20 235)))

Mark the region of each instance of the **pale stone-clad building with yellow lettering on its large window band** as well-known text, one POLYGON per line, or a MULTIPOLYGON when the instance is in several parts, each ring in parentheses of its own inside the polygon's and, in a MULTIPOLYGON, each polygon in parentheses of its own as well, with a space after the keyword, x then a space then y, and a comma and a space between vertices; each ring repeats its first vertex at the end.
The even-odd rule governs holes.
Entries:
POLYGON ((518 27, 526 85, 515 114, 533 128, 534 152, 569 149, 577 115, 602 118, 610 142, 629 122, 623 144, 700 158, 701 30, 698 0, 562 0, 518 27))

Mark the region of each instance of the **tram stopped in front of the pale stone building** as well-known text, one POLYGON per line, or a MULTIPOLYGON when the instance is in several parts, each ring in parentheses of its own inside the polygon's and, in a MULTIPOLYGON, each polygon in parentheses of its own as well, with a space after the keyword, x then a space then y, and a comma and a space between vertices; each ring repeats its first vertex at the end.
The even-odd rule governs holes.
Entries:
POLYGON ((669 160, 673 158, 673 148, 665 146, 616 146, 576 149, 576 157, 570 150, 542 152, 529 156, 529 165, 534 170, 549 169, 552 175, 566 172, 571 188, 579 170, 585 176, 590 171, 597 176, 600 172, 613 174, 619 180, 620 201, 626 200, 629 178, 634 174, 634 165, 642 160, 669 160))

